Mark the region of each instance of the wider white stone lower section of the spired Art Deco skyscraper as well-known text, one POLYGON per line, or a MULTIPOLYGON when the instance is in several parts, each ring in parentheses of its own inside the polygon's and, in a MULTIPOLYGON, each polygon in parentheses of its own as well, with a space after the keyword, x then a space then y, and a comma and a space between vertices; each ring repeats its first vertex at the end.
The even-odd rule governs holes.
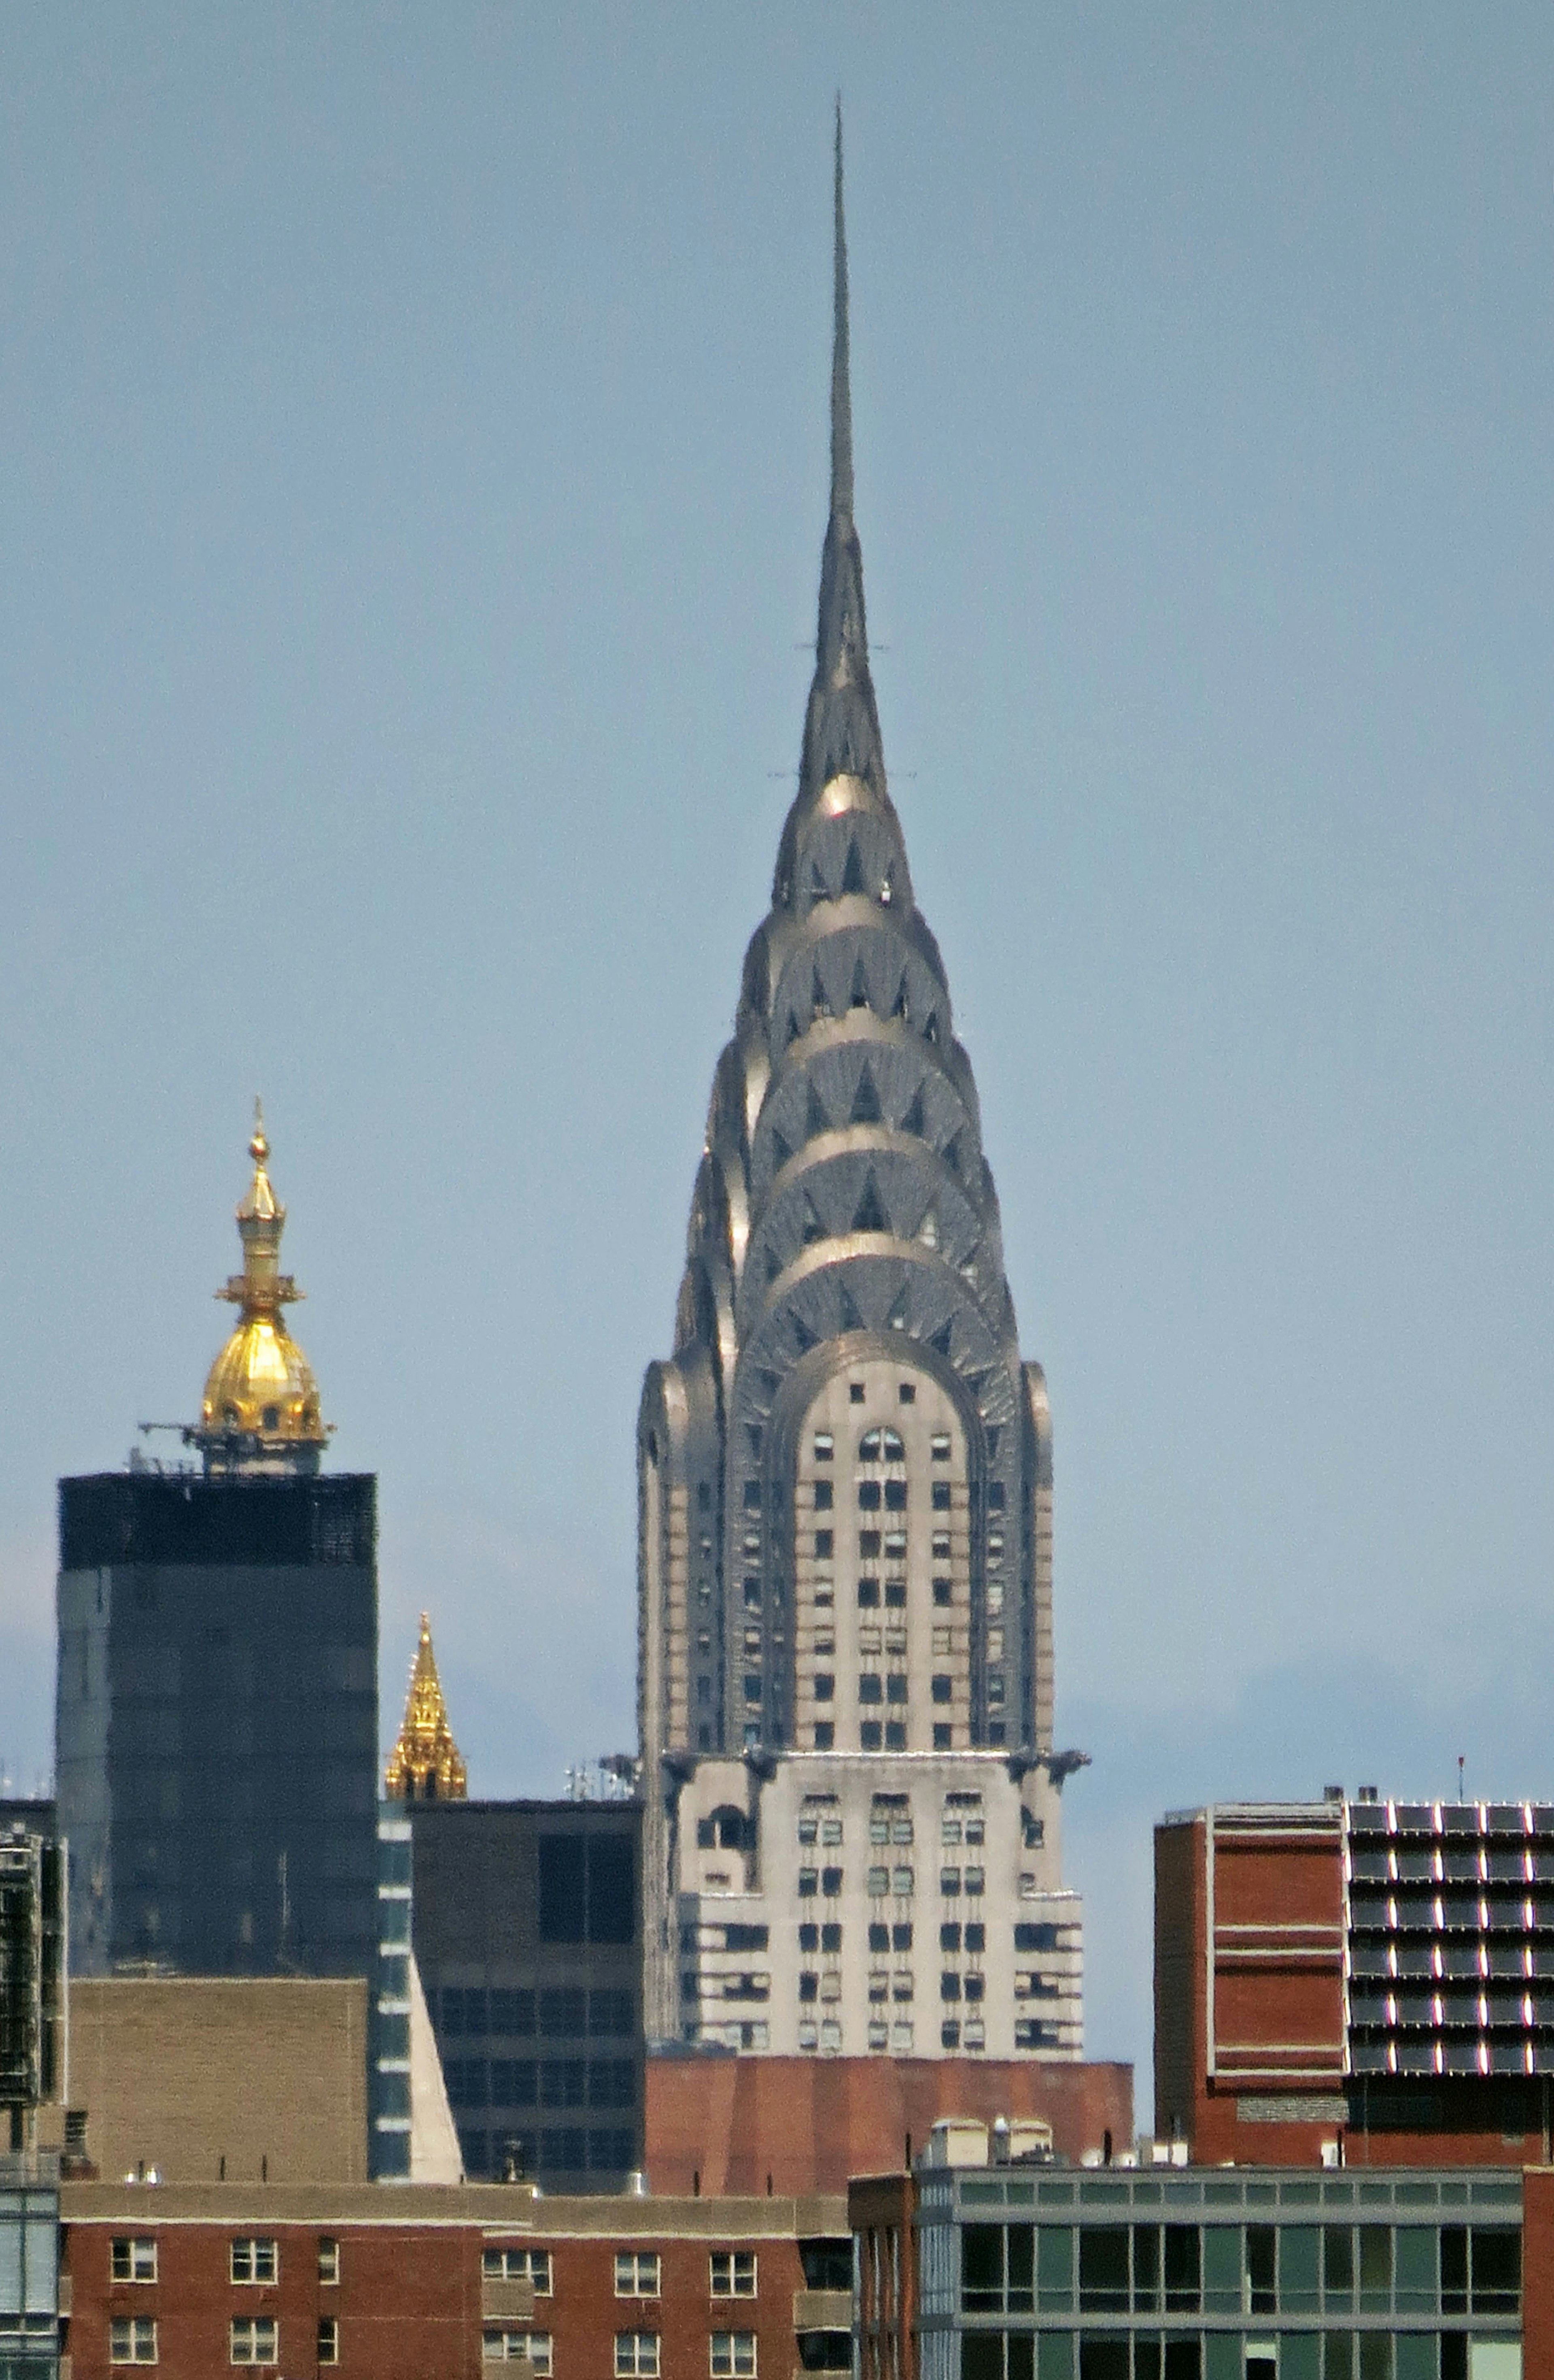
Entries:
POLYGON ((1057 1837, 1047 1771, 988 1752, 697 1761, 673 1818, 678 2037, 1083 2056, 1057 1837))

